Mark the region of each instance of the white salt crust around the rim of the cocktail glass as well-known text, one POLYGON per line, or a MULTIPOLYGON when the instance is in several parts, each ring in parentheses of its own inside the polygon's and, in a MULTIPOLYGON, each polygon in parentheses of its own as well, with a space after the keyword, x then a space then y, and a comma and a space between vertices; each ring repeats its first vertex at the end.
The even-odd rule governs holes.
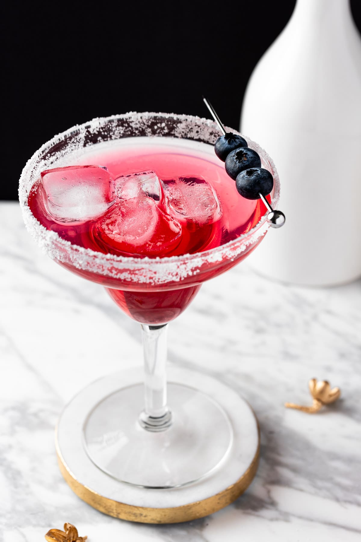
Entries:
MULTIPOLYGON (((95 118, 90 122, 75 125, 69 130, 55 135, 28 160, 19 180, 19 202, 25 227, 45 254, 53 260, 67 263, 87 272, 108 276, 111 279, 132 283, 149 283, 155 286, 167 282, 178 282, 187 276, 200 273, 202 266, 207 266, 206 270, 209 271, 211 270, 209 264, 215 264, 214 267, 216 267, 216 264, 223 260, 232 261, 265 234, 269 228, 267 222, 268 212, 265 212, 250 231, 219 247, 201 253, 139 259, 102 254, 88 248, 79 247, 65 241, 55 231, 46 229, 38 222, 29 208, 28 196, 32 185, 40 176, 40 171, 48 169, 52 163, 71 151, 83 149, 103 140, 128 137, 127 129, 129 130, 129 128, 132 128, 134 132, 138 130, 141 135, 148 135, 149 137, 163 135, 192 139, 209 144, 214 144, 215 139, 219 137, 219 129, 212 120, 193 117, 192 115, 151 112, 129 112, 121 115, 111 115, 110 117, 95 118), (123 121, 123 124, 119 124, 117 121, 123 121), (111 127, 111 133, 104 133, 109 126, 111 127)), ((228 127, 226 127, 226 131, 239 134, 239 132, 235 132, 228 127)), ((245 139, 248 146, 258 152, 270 164, 274 179, 272 205, 277 207, 280 185, 273 160, 257 143, 248 137, 245 137, 245 139)))

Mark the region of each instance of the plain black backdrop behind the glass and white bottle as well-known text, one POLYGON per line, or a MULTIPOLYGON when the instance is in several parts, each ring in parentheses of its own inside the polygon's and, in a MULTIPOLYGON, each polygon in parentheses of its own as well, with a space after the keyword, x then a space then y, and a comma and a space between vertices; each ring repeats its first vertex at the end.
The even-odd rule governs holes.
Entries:
MULTIPOLYGON (((237 128, 247 80, 295 3, 6 5, 0 199, 17 199, 21 170, 38 147, 94 117, 127 111, 209 117, 205 94, 224 124, 237 128)), ((351 0, 359 29, 360 4, 351 0)))

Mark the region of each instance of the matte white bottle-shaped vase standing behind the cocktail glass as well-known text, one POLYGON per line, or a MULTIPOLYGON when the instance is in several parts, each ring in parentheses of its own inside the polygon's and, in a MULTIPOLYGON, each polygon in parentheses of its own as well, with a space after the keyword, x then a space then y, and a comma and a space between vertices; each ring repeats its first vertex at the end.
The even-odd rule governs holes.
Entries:
POLYGON ((361 40, 348 0, 297 0, 248 82, 241 132, 279 171, 286 224, 250 256, 310 286, 361 275, 361 40))

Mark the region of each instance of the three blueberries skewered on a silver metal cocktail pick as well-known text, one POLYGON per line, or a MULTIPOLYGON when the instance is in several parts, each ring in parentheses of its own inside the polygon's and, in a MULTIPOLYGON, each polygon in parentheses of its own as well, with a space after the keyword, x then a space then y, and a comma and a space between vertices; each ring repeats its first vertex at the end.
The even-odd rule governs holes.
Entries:
POLYGON ((214 144, 214 152, 226 163, 226 172, 229 177, 235 180, 237 191, 246 199, 261 199, 268 210, 267 221, 272 228, 280 228, 284 225, 286 217, 282 211, 273 210, 266 199, 266 196, 268 196, 273 189, 272 173, 263 167, 259 167, 261 165, 259 154, 252 149, 248 149, 247 142, 244 138, 232 132, 226 133, 218 114, 205 96, 203 96, 203 101, 208 107, 209 112, 211 112, 219 130, 222 132, 222 135, 214 144), (232 146, 237 145, 236 142, 239 140, 245 141, 245 145, 232 146), (227 149, 229 149, 229 151, 226 155, 227 149), (239 156, 237 152, 239 153, 239 156), (242 167, 242 162, 245 163, 246 167, 242 167), (254 167, 255 164, 257 164, 257 167, 254 167))

